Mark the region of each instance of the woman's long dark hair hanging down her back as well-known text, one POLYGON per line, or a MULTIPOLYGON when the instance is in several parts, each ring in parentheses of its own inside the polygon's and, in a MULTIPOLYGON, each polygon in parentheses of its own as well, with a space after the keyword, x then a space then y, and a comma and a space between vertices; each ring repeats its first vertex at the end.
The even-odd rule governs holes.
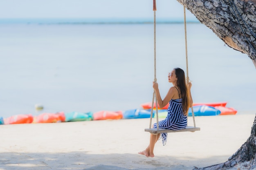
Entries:
POLYGON ((184 115, 188 115, 189 112, 189 90, 188 86, 186 85, 186 78, 185 73, 181 68, 174 68, 175 75, 177 77, 177 86, 180 89, 180 95, 182 98, 182 108, 184 115))

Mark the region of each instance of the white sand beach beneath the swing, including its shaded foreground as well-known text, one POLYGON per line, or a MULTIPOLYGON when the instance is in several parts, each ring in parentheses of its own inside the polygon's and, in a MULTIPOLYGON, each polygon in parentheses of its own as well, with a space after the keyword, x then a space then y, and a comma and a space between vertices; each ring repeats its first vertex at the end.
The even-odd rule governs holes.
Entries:
POLYGON ((254 117, 195 117, 201 130, 169 133, 154 158, 138 154, 149 142, 149 119, 1 125, 0 170, 202 168, 227 161, 249 137, 254 117))

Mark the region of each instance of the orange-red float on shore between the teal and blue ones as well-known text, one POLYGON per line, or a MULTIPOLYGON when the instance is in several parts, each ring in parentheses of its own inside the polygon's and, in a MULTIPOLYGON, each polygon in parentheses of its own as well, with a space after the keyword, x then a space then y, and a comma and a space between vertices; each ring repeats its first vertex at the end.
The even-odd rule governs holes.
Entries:
POLYGON ((113 111, 102 110, 102 111, 93 113, 92 117, 93 117, 93 120, 122 119, 123 113, 122 111, 113 112, 113 111))

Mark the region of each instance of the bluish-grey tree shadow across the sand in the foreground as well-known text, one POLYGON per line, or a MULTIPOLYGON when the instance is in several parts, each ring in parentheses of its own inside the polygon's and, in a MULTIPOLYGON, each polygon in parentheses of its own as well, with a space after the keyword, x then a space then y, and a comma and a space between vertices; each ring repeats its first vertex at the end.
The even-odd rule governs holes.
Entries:
POLYGON ((67 153, 0 153, 0 170, 192 170, 209 166, 209 160, 175 156, 147 158, 139 154, 88 154, 86 152, 67 153))

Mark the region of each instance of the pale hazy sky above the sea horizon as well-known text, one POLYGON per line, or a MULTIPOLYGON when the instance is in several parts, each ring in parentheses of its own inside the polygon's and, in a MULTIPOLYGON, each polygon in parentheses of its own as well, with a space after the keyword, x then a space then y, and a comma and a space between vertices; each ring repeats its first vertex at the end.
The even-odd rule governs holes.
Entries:
MULTIPOLYGON (((0 0, 0 18, 150 18, 153 0, 0 0)), ((157 18, 183 18, 176 0, 157 0, 157 18)), ((186 12, 186 17, 195 16, 186 12)))

